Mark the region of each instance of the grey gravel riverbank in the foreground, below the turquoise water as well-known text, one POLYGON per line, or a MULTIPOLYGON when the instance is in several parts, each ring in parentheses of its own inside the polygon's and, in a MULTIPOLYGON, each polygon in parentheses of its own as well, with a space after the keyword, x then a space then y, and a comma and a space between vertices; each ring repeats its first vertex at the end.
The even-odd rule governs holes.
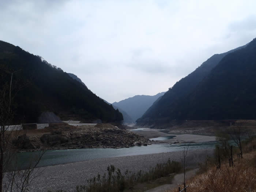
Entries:
MULTIPOLYGON (((207 155, 212 154, 212 149, 189 150, 187 166, 195 168, 198 166, 198 163, 205 161, 207 155)), ((132 172, 138 172, 139 170, 148 171, 150 168, 155 167, 157 163, 167 162, 169 158, 171 161, 180 161, 182 151, 93 159, 64 165, 42 167, 37 170, 45 170, 32 181, 30 190, 38 192, 61 189, 67 192, 74 191, 76 186, 86 185, 87 180, 91 177, 97 176, 98 173, 105 173, 110 164, 114 165, 116 168, 120 168, 121 172, 127 169, 132 172)))

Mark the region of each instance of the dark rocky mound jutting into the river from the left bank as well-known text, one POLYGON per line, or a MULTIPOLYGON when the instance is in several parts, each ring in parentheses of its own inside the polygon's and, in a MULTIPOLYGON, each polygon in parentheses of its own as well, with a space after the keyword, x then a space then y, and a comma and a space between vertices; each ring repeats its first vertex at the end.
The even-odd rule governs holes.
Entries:
POLYGON ((71 126, 52 124, 44 130, 35 130, 13 140, 19 151, 38 149, 60 150, 75 148, 122 148, 147 146, 151 141, 136 133, 111 124, 71 126))

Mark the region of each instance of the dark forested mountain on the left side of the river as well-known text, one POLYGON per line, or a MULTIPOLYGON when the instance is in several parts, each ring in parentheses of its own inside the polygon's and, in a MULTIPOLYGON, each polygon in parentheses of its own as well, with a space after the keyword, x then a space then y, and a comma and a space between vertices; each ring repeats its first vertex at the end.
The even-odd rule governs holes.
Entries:
POLYGON ((12 104, 16 122, 35 123, 43 112, 53 112, 62 120, 123 120, 118 110, 61 68, 18 46, 0 41, 1 93, 2 90, 8 93, 12 72, 12 95, 15 95, 12 104))

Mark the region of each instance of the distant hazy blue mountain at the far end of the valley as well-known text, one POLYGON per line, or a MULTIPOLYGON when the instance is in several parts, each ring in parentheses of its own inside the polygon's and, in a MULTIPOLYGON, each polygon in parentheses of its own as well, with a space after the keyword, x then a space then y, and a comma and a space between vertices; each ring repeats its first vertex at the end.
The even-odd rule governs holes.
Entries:
POLYGON ((112 105, 116 106, 118 109, 123 109, 135 123, 135 121, 140 118, 146 112, 146 110, 163 94, 165 94, 165 92, 158 93, 153 96, 135 95, 134 97, 130 97, 119 102, 114 102, 112 105))

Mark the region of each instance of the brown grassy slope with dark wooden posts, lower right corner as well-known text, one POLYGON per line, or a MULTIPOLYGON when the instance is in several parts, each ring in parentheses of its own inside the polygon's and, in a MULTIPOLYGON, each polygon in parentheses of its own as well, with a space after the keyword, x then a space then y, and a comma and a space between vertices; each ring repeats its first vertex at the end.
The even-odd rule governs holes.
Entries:
MULTIPOLYGON (((218 146, 219 147, 219 146, 218 146)), ((198 174, 187 181, 187 192, 255 192, 256 191, 256 139, 251 138, 243 141, 243 158, 237 158, 237 153, 233 156, 234 165, 230 166, 227 161, 225 150, 217 152, 220 154, 222 165, 220 168, 217 158, 208 158, 206 163, 201 165, 198 174)), ((235 148, 234 151, 240 151, 235 148)), ((215 157, 218 157, 215 155, 215 157)), ((182 187, 181 187, 182 188, 182 187)), ((177 189, 169 192, 177 192, 177 189)))

